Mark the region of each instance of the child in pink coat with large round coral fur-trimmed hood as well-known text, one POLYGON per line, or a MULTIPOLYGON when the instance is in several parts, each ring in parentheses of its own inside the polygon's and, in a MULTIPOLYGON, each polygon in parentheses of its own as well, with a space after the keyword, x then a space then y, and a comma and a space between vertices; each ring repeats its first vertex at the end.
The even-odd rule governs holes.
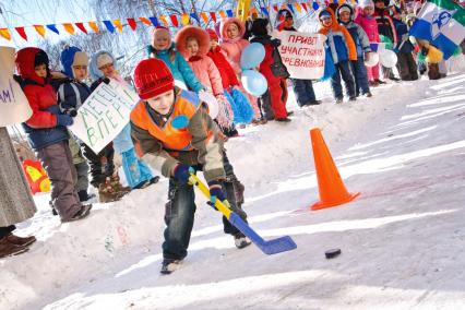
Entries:
POLYGON ((213 60, 206 56, 210 50, 210 35, 196 26, 186 26, 175 38, 176 49, 186 58, 200 83, 212 93, 218 102, 216 121, 223 130, 233 128, 234 115, 227 102, 222 83, 222 75, 213 60))

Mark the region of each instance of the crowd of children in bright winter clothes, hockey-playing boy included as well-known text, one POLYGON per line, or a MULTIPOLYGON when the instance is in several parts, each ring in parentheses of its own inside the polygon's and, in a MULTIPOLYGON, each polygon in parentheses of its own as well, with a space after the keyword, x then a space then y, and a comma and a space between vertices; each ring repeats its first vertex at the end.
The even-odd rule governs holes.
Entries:
MULTIPOLYGON (((388 41, 397 55, 401 80, 418 79, 415 55, 419 49, 408 37, 401 8, 389 4, 389 0, 360 0, 356 8, 335 4, 318 13, 318 32, 326 36, 326 57, 334 63, 330 78, 335 103, 344 102, 341 80, 350 102, 358 96, 371 97, 370 87, 385 83, 380 79, 380 65, 366 63, 388 41)), ((237 136, 237 128, 247 124, 291 121, 293 112, 286 107, 288 82, 298 106, 321 104, 311 80, 289 79, 278 52, 281 41, 271 36, 270 29, 270 21, 259 16, 249 21, 248 26, 236 17, 222 20, 215 28, 184 26, 174 39, 168 28, 155 27, 147 45, 148 59, 141 61, 134 71, 133 82, 141 103, 133 109, 131 122, 98 154, 73 136, 68 127, 100 83, 112 79, 126 84, 115 57, 102 50, 90 60, 81 49, 67 46, 61 53, 62 73, 59 73, 50 71, 44 50, 21 49, 16 56, 16 80, 33 109, 33 116, 23 127, 50 178, 50 204, 61 222, 90 214, 90 183, 98 190, 100 202, 115 201, 132 189, 156 182, 158 177, 154 177, 151 168, 157 169, 170 179, 162 269, 163 273, 169 273, 187 255, 193 225, 195 204, 192 186, 188 183, 190 174, 203 170, 212 196, 227 200, 246 219, 241 210, 245 187, 226 156, 225 141, 237 136), (261 44, 265 50, 257 70, 269 87, 260 97, 246 92, 241 83, 240 59, 251 43, 261 44), (93 80, 91 86, 85 83, 88 73, 93 80), (199 99, 207 93, 218 105, 214 119, 208 115, 208 106, 199 99), (178 116, 187 117, 184 126, 175 123, 178 116), (115 171, 115 152, 122 158, 129 187, 121 186, 115 171)), ((276 29, 296 31, 291 11, 278 11, 276 29)), ((422 46, 421 52, 429 53, 432 49, 430 45, 422 46)), ((398 80, 392 68, 381 67, 381 70, 384 79, 398 80)), ((226 219, 224 225, 238 248, 250 243, 226 219)))

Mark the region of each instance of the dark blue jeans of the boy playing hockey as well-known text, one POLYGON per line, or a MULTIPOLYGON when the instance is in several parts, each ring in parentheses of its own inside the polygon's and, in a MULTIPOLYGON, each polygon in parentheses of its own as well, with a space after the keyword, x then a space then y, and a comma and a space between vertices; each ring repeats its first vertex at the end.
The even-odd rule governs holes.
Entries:
MULTIPOLYGON (((231 210, 237 213, 243 220, 247 214, 236 202, 233 166, 230 165, 226 154, 223 156, 226 180, 222 183, 226 199, 231 210)), ((201 166, 194 167, 201 170, 201 166)), ((195 193, 194 188, 190 184, 179 183, 176 179, 169 179, 168 203, 165 205, 165 241, 162 245, 164 259, 182 260, 188 254, 188 247, 191 238, 192 227, 195 214, 195 193)), ((223 216, 224 231, 230 235, 240 233, 223 216)))

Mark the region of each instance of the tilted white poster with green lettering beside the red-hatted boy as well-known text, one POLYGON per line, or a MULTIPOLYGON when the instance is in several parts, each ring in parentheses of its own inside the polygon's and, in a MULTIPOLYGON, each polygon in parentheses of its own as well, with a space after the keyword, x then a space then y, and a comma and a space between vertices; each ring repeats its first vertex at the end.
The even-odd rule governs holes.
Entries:
POLYGON ((129 122, 132 108, 140 102, 129 87, 111 80, 102 83, 79 108, 70 127, 81 141, 98 153, 129 122))

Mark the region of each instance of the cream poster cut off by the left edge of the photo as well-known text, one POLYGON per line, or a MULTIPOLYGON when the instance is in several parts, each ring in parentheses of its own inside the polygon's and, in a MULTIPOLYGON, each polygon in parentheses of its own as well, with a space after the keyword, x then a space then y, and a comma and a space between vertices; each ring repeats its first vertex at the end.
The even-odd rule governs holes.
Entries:
POLYGON ((0 127, 26 121, 33 115, 13 71, 14 48, 0 46, 0 127))

